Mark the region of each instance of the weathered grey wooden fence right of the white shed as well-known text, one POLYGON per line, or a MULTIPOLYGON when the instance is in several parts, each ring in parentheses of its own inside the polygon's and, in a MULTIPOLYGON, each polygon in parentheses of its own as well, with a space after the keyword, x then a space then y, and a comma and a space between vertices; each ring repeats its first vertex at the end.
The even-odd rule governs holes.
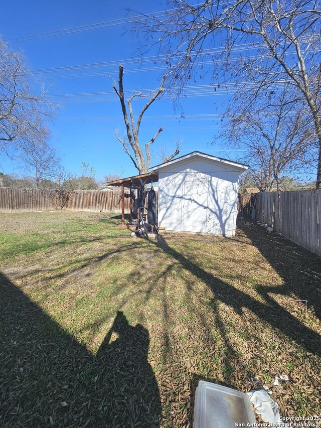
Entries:
POLYGON ((256 219, 321 255, 321 190, 258 193, 256 219))

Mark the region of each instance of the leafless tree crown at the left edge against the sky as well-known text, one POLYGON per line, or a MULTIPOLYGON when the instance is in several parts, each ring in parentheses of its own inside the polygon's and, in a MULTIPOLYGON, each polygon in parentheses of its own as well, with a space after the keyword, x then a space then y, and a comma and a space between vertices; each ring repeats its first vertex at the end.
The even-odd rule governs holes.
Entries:
POLYGON ((35 153, 48 137, 44 120, 52 113, 45 92, 33 94, 27 82, 30 72, 21 56, 10 52, 2 41, 0 70, 0 155, 35 153))

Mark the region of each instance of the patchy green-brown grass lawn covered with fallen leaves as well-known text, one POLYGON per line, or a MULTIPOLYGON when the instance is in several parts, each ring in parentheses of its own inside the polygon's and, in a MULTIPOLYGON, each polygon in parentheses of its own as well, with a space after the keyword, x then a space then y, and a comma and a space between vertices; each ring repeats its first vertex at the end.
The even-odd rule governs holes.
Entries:
POLYGON ((1 214, 1 427, 187 427, 200 379, 320 415, 319 257, 246 220, 158 241, 118 223, 1 214))

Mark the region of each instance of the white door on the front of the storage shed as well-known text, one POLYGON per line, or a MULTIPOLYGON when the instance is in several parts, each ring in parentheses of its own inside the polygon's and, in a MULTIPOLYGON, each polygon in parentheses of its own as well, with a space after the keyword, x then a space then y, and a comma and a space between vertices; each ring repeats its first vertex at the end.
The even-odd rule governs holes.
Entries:
POLYGON ((208 181, 184 182, 182 230, 206 232, 208 181))

